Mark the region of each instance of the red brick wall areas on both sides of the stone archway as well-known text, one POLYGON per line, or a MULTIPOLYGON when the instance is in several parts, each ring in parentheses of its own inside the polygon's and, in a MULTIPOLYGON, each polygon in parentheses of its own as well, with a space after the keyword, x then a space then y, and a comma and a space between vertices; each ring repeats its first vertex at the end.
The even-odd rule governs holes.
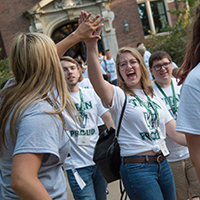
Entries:
MULTIPOLYGON (((6 0, 1 1, 0 6, 0 59, 7 57, 10 52, 13 38, 20 32, 28 32, 30 20, 23 13, 32 8, 40 0, 6 0)), ((181 5, 182 7, 182 5, 181 5)), ((169 4, 169 9, 175 8, 174 3, 169 4)), ((113 27, 119 48, 123 46, 135 47, 138 42, 144 40, 142 22, 139 17, 136 0, 112 0, 110 9, 115 13, 113 27), (125 33, 124 20, 129 24, 129 33, 125 33)), ((171 15, 172 21, 177 17, 171 15)), ((174 24, 174 23, 173 23, 174 24)))

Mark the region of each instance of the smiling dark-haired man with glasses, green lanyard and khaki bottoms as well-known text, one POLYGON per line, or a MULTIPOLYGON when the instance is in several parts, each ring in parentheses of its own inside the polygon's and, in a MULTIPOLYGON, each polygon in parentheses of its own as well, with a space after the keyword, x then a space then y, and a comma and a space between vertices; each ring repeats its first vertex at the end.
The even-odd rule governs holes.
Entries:
MULTIPOLYGON (((153 80, 155 95, 162 99, 176 121, 181 86, 178 86, 176 79, 172 78, 171 57, 164 51, 154 52, 149 58, 149 69, 155 78, 153 80)), ((169 137, 166 138, 166 144, 171 153, 167 159, 174 176, 177 200, 189 199, 188 194, 191 199, 199 197, 200 184, 188 148, 177 144, 169 137)))

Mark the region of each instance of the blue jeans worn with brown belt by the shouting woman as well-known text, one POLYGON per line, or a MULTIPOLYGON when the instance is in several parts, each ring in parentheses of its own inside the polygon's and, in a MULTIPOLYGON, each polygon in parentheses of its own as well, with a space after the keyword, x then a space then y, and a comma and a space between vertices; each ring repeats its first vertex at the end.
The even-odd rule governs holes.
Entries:
MULTIPOLYGON (((129 156, 137 158, 145 156, 129 156)), ((174 179, 167 159, 161 162, 123 163, 121 178, 131 200, 176 200, 174 179)))

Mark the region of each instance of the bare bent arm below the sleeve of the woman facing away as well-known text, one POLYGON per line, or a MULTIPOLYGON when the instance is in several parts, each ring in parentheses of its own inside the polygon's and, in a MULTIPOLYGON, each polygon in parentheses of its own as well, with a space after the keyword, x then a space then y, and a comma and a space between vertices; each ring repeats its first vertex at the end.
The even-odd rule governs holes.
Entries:
MULTIPOLYGON (((43 154, 21 153, 13 156, 10 187, 22 200, 50 200, 38 179, 43 154)), ((46 174, 46 176, 48 176, 46 174)), ((52 186, 53 187, 53 186, 52 186)))

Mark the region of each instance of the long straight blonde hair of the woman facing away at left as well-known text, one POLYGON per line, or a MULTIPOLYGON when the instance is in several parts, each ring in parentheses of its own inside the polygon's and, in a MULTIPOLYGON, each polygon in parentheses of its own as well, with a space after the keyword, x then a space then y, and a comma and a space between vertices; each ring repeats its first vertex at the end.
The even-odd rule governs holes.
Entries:
POLYGON ((59 114, 64 128, 62 111, 66 109, 75 120, 75 106, 67 90, 63 69, 54 42, 41 33, 22 33, 12 45, 9 64, 15 82, 5 87, 0 93, 0 154, 5 148, 5 127, 13 111, 10 121, 10 136, 16 141, 16 123, 19 115, 34 102, 34 105, 47 99, 50 95, 54 106, 50 114, 59 114), (57 90, 57 97, 54 90, 57 90), (15 107, 15 109, 14 109, 15 107))

